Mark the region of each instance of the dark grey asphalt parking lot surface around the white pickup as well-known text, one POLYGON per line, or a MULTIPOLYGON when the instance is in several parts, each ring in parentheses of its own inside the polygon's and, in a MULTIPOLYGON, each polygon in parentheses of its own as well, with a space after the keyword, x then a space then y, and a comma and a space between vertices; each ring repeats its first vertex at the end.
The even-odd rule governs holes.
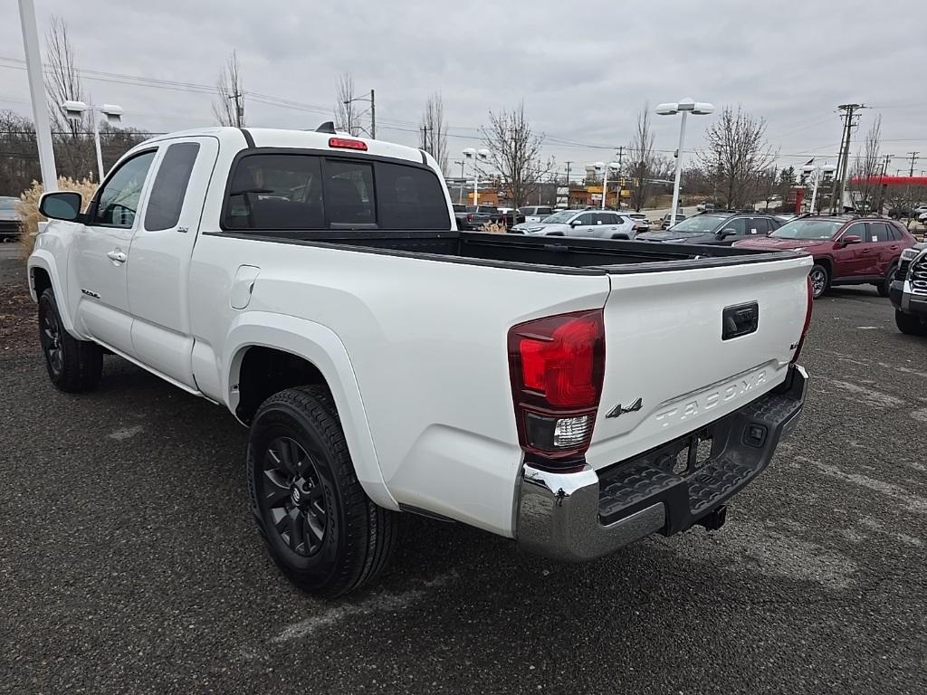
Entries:
POLYGON ((264 554, 227 411, 111 357, 55 392, 0 294, 2 692, 927 691, 927 341, 874 288, 816 304, 804 420, 720 531, 562 565, 408 517, 334 603, 264 554))

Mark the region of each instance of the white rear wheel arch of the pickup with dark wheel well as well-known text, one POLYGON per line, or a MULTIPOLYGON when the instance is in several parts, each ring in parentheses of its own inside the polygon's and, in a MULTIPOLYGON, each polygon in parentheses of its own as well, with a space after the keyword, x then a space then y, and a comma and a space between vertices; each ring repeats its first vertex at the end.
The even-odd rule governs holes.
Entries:
POLYGON ((249 423, 268 387, 277 393, 291 386, 324 385, 335 402, 364 492, 382 507, 399 509, 380 471, 348 351, 333 331, 293 316, 250 311, 235 323, 226 345, 229 360, 222 387, 229 410, 239 421, 249 423), (263 380, 262 374, 270 378, 263 380))

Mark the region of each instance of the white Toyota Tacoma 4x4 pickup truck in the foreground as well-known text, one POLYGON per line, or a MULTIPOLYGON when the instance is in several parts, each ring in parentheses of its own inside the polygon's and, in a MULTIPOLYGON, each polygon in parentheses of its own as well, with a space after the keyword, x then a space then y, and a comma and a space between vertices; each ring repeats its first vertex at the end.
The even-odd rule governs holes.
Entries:
POLYGON ((460 233, 433 158, 330 124, 158 137, 41 209, 52 382, 114 353, 226 406, 320 595, 377 575, 398 512, 570 561, 717 528, 802 410, 810 257, 460 233))

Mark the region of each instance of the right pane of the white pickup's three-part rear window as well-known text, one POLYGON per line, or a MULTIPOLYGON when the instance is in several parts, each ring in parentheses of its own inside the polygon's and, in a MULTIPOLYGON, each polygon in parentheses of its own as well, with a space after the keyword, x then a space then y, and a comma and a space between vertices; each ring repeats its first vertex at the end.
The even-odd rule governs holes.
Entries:
POLYGON ((444 189, 429 170, 376 162, 380 229, 451 229, 444 189))

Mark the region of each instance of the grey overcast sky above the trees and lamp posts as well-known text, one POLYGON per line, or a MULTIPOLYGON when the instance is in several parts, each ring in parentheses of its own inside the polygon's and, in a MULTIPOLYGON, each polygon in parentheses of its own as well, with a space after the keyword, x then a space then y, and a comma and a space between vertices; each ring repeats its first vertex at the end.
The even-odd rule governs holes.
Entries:
MULTIPOLYGON (((15 62, 23 58, 17 4, 3 6, 0 108, 30 114, 26 73, 15 62)), ((766 119, 768 142, 787 165, 811 154, 833 161, 836 106, 858 102, 872 108, 862 112, 857 142, 881 114, 883 152, 899 156, 892 170, 907 169, 901 158, 911 150, 921 150, 915 173, 927 170, 922 0, 35 0, 35 7, 39 32, 53 14, 67 22, 86 93, 120 104, 127 125, 153 132, 213 124, 213 95, 131 78, 210 87, 235 48, 252 126, 316 127, 330 118, 337 76, 349 70, 359 91, 376 90, 378 135, 403 144, 416 145, 425 99, 439 91, 451 159, 479 145, 489 109, 524 100, 533 127, 547 135, 546 153, 560 171, 572 160, 578 172, 629 143, 644 102, 692 96, 766 119), (104 81, 92 71, 130 79, 104 81), (274 99, 298 104, 266 103, 274 99)), ((703 143, 712 118, 690 119, 687 150, 703 143)), ((671 151, 678 117, 655 120, 656 148, 671 151)))

